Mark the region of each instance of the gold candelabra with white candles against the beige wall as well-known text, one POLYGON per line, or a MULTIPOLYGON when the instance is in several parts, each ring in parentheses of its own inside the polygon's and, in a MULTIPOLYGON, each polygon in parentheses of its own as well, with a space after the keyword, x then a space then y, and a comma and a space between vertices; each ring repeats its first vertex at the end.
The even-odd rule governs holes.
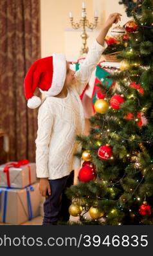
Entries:
POLYGON ((95 22, 94 23, 89 23, 87 17, 86 17, 86 8, 85 8, 85 3, 82 3, 82 19, 80 19, 79 23, 75 23, 73 21, 73 15, 71 12, 69 12, 69 19, 71 21, 71 26, 73 29, 78 30, 78 28, 83 28, 83 32, 81 34, 82 37, 82 43, 83 43, 83 47, 80 51, 80 55, 87 53, 88 52, 88 47, 87 47, 87 38, 88 35, 86 33, 85 28, 89 28, 90 30, 93 30, 94 28, 96 28, 97 24, 98 24, 98 12, 95 11, 95 22))

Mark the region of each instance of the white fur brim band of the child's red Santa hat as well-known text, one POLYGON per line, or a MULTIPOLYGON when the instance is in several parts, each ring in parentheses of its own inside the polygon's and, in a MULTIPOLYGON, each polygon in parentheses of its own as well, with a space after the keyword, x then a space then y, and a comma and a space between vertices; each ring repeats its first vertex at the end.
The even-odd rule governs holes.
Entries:
POLYGON ((46 96, 55 96, 62 91, 66 80, 66 57, 62 53, 53 53, 53 79, 48 91, 42 91, 46 96))

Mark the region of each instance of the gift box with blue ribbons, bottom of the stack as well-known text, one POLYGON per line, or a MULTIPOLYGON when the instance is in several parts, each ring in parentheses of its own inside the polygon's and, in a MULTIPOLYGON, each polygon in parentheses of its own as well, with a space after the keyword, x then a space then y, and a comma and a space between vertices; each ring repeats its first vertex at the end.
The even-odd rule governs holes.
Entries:
POLYGON ((26 188, 0 188, 0 222, 21 224, 40 214, 39 183, 26 188))

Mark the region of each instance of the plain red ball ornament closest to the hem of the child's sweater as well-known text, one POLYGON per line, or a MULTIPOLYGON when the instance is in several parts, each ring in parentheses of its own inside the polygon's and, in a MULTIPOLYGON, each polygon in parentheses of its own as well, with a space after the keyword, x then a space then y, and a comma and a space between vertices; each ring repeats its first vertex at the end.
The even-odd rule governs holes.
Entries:
POLYGON ((96 179, 96 172, 93 168, 85 165, 82 167, 78 173, 78 179, 84 183, 93 181, 96 179))

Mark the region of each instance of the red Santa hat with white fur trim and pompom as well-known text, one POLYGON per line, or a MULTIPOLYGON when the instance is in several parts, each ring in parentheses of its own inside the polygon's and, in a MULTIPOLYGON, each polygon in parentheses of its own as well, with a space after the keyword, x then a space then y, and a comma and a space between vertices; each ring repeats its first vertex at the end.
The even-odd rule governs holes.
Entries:
POLYGON ((46 96, 55 96, 62 91, 66 80, 66 57, 62 53, 53 53, 35 61, 24 78, 24 93, 28 107, 35 109, 41 104, 41 99, 33 95, 36 87, 46 96))

